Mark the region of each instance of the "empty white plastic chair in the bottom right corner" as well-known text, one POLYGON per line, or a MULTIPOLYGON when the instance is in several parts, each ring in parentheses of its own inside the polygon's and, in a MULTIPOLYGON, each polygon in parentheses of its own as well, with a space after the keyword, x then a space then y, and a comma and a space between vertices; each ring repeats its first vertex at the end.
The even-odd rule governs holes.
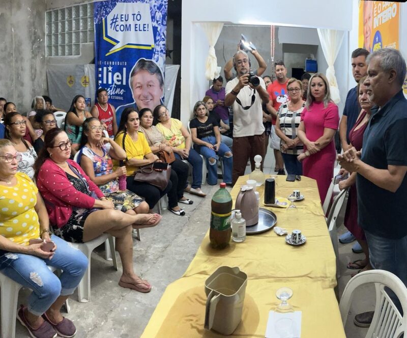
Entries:
POLYGON ((350 307, 355 290, 361 285, 370 283, 374 283, 376 289, 376 304, 366 338, 400 337, 407 328, 407 288, 396 275, 384 270, 364 271, 348 281, 339 303, 343 327, 345 327, 347 318, 352 315, 350 307), (398 297, 403 309, 403 316, 400 315, 392 299, 386 293, 385 287, 390 288, 398 297))

